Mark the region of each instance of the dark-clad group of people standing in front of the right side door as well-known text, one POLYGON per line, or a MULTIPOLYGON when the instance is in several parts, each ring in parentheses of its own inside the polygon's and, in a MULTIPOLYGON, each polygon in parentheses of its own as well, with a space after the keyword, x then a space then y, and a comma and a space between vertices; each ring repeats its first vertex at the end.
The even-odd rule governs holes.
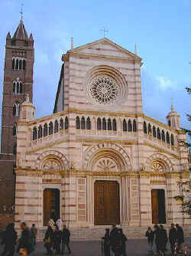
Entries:
POLYGON ((163 225, 154 225, 154 231, 149 227, 146 231, 146 237, 148 240, 148 251, 153 252, 153 243, 155 242, 157 254, 164 255, 167 252, 167 242, 170 241, 170 248, 172 254, 174 254, 175 245, 177 251, 181 252, 181 245, 184 242, 183 228, 180 225, 176 226, 172 223, 169 231, 169 237, 167 237, 167 231, 163 228, 163 225))

